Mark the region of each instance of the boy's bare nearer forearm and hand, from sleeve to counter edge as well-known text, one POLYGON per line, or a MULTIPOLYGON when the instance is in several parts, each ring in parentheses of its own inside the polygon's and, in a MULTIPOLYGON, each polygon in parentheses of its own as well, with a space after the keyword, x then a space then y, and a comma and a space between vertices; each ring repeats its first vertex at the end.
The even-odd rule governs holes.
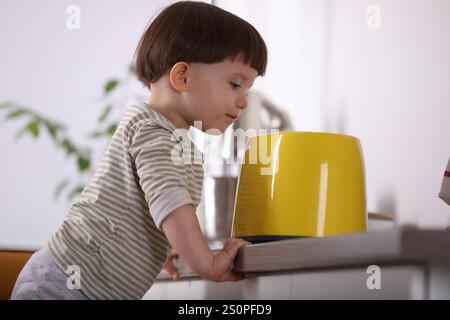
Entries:
POLYGON ((242 239, 229 240, 216 255, 208 247, 192 205, 185 205, 169 214, 162 222, 169 243, 189 267, 211 281, 237 281, 242 274, 232 272, 234 258, 243 245, 242 239))

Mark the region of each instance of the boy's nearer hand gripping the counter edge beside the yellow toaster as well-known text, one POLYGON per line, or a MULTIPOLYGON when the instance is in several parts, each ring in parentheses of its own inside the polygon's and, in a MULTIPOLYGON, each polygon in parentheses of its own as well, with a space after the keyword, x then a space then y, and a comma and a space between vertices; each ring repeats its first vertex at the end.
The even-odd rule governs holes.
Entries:
POLYGON ((248 244, 250 244, 250 242, 242 239, 229 239, 223 246, 223 249, 214 256, 208 280, 222 282, 245 279, 243 273, 233 272, 231 268, 239 248, 248 244))

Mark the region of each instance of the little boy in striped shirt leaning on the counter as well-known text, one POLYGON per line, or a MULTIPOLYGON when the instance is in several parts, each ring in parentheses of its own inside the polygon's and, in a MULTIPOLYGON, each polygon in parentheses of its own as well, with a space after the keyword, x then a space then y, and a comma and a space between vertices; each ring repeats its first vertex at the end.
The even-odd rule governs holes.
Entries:
MULTIPOLYGON (((126 109, 94 178, 24 267, 13 299, 140 299, 170 247, 205 279, 243 279, 231 267, 248 242, 230 239, 213 254, 195 214, 201 161, 175 158, 198 151, 179 134, 194 121, 224 132, 239 117, 265 73, 265 43, 239 17, 187 1, 156 17, 136 53, 149 101, 126 109)), ((176 274, 171 259, 167 266, 176 274)))

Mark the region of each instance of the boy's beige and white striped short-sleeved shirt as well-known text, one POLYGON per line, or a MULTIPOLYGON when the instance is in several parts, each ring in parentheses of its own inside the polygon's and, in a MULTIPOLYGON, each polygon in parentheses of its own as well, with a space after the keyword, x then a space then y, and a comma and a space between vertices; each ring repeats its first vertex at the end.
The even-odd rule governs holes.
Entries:
POLYGON ((58 267, 72 277, 79 270, 88 297, 141 299, 170 249, 162 221, 199 205, 203 158, 181 131, 146 103, 128 107, 94 177, 49 240, 58 267))

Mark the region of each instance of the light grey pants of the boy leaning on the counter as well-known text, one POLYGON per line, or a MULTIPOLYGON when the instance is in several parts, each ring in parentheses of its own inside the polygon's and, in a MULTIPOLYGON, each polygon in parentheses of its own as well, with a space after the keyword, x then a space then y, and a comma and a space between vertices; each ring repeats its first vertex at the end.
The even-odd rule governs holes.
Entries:
POLYGON ((20 272, 11 300, 89 300, 81 290, 69 289, 67 279, 44 246, 20 272))

